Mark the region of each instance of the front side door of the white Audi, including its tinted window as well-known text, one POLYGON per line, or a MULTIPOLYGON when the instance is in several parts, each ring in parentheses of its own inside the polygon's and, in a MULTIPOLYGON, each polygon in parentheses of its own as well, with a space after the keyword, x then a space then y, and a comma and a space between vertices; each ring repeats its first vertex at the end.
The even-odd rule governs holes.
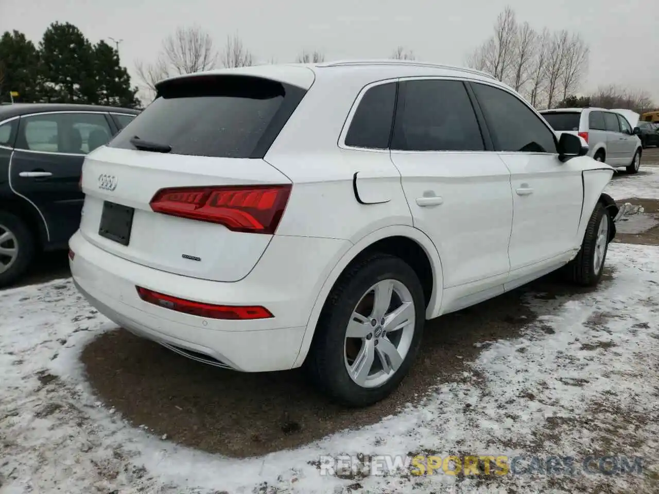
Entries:
MULTIPOLYGON (((537 274, 579 244, 581 169, 558 159, 554 131, 511 92, 471 83, 500 159, 511 173, 514 202, 511 281, 537 274)), ((489 211, 492 207, 489 208, 489 211)))

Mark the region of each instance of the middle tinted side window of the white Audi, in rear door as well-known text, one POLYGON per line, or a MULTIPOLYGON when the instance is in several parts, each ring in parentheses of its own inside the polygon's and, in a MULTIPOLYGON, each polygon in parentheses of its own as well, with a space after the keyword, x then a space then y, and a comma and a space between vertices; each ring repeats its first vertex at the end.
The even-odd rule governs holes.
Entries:
POLYGON ((411 80, 399 86, 391 149, 482 151, 480 127, 463 82, 411 80))

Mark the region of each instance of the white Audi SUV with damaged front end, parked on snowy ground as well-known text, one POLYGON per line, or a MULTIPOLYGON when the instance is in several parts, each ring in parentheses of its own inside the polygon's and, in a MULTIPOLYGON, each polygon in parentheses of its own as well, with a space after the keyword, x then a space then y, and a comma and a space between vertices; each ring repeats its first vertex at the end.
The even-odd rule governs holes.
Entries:
POLYGON ((618 208, 581 144, 474 70, 177 76, 86 158, 72 275, 136 335, 237 371, 304 365, 365 406, 413 365, 426 319, 561 267, 597 283, 618 208))

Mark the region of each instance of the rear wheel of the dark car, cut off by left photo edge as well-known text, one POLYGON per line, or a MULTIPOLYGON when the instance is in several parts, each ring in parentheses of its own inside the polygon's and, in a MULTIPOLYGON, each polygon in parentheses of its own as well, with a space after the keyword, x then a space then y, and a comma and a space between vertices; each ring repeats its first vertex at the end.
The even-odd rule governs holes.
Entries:
POLYGON ((0 288, 11 285, 25 273, 34 250, 34 236, 24 221, 0 211, 0 288))

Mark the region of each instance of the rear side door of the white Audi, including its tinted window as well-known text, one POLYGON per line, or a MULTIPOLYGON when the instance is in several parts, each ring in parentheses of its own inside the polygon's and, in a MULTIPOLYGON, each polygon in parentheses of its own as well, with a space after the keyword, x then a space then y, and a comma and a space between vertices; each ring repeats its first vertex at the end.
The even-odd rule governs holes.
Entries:
POLYGON ((434 242, 453 298, 502 285, 509 271, 509 172, 486 148, 461 80, 399 83, 391 159, 414 225, 434 242))

